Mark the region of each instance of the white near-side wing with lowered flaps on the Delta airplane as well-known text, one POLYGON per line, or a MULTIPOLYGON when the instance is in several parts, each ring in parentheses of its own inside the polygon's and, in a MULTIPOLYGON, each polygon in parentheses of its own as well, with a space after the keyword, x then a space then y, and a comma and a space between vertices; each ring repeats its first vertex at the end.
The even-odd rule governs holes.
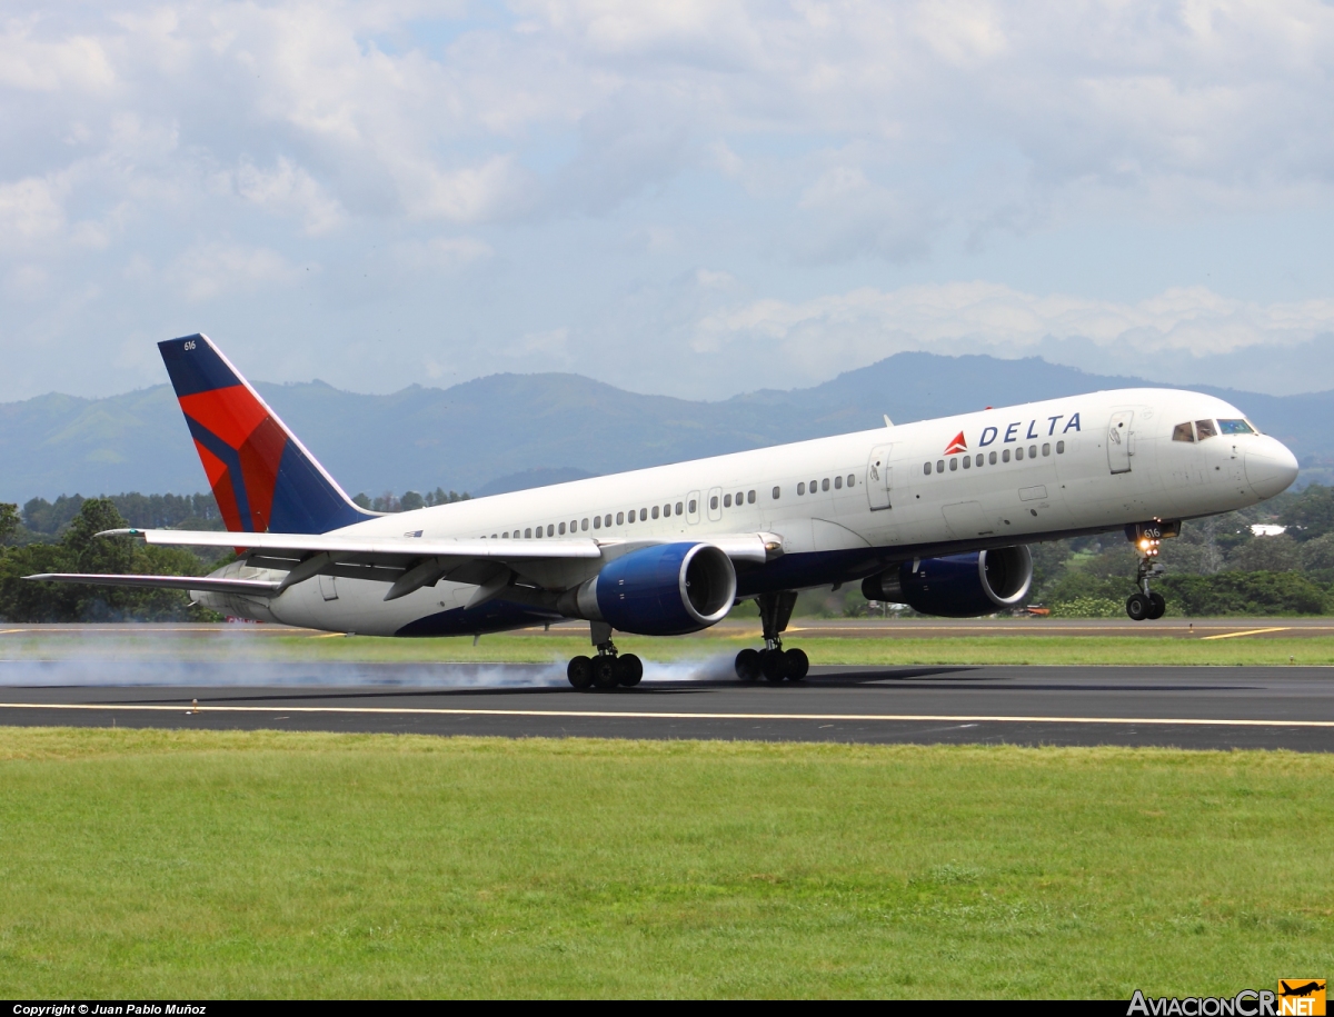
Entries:
MULTIPOLYGON (((264 590, 247 587, 248 593, 280 594, 316 575, 371 579, 390 585, 386 601, 407 597, 442 578, 500 589, 511 574, 518 574, 542 589, 563 590, 570 581, 568 565, 587 563, 587 575, 595 574, 600 562, 656 543, 658 541, 595 541, 591 538, 544 539, 423 539, 404 537, 360 537, 355 534, 272 534, 219 533, 199 530, 108 530, 104 537, 136 535, 151 545, 187 547, 244 549, 247 565, 273 569, 287 575, 264 590), (503 579, 502 579, 503 577, 503 579), (499 583, 499 585, 498 585, 499 583)), ((782 539, 774 534, 716 534, 698 541, 722 550, 734 562, 763 563, 782 553, 782 539)), ((36 577, 33 577, 36 578, 36 577)), ((127 579, 133 577, 125 577, 127 579)), ((165 578, 165 577, 153 577, 165 578)), ((61 578, 60 582, 99 582, 93 578, 61 578)), ((220 582, 257 582, 231 581, 220 582)), ((133 585, 133 583, 125 583, 133 585)), ((188 586, 180 589, 205 589, 188 586)), ((215 587, 221 591, 221 587, 215 587)), ((235 593, 241 593, 237 589, 235 593)))

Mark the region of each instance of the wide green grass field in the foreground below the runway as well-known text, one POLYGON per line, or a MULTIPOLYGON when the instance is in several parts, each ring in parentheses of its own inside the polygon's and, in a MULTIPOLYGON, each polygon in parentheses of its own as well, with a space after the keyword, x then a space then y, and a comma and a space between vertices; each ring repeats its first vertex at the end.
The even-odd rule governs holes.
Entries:
POLYGON ((0 729, 0 996, 1233 994, 1334 757, 0 729))

